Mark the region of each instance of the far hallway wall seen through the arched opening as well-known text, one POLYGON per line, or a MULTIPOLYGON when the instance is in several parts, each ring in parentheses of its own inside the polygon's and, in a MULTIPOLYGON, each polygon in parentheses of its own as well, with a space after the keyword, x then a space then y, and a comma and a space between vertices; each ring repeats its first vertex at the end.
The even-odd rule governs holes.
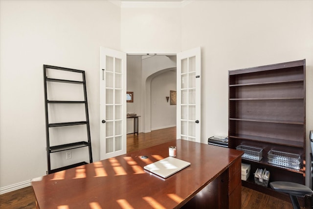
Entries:
POLYGON ((163 72, 151 81, 151 130, 176 126, 176 105, 170 105, 170 91, 176 91, 176 70, 163 72))

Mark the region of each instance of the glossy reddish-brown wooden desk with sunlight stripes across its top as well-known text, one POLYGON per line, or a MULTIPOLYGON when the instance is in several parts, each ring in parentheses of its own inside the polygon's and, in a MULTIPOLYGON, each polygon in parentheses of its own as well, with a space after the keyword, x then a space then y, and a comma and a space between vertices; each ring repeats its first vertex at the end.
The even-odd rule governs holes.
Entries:
POLYGON ((41 209, 241 208, 243 152, 186 140, 174 140, 100 162, 32 180, 41 209), (143 166, 168 157, 191 163, 163 179, 143 166), (141 159, 146 155, 148 159, 141 159), (60 207, 61 208, 61 207, 60 207))

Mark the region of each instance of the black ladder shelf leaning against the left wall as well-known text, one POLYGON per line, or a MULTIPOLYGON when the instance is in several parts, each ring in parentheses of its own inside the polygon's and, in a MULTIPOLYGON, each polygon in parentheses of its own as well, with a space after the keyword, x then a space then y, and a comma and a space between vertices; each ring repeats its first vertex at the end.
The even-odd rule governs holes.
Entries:
POLYGON ((80 162, 74 163, 63 167, 58 167, 55 169, 51 169, 51 153, 61 152, 71 149, 77 149, 81 147, 88 147, 89 150, 89 163, 92 163, 92 152, 91 152, 91 140, 90 140, 90 127, 89 127, 89 114, 88 114, 88 102, 87 102, 87 89, 86 89, 86 78, 85 78, 85 71, 84 70, 74 70, 62 67, 55 67, 44 65, 44 84, 45 84, 45 124, 46 124, 46 155, 47 155, 47 174, 55 173, 58 171, 66 170, 69 168, 77 167, 80 165, 88 164, 87 162, 80 162), (75 80, 63 80, 63 79, 56 79, 56 78, 48 78, 47 77, 47 70, 65 70, 75 73, 82 73, 82 81, 75 81, 75 80), (48 82, 61 82, 61 83, 71 83, 71 84, 79 84, 83 85, 84 89, 84 101, 65 101, 65 100, 48 100, 47 94, 47 83, 48 82), (61 122, 61 123, 49 123, 48 118, 48 104, 85 104, 85 114, 86 114, 86 121, 75 121, 75 122, 61 122), (84 125, 86 124, 87 127, 87 140, 86 141, 77 141, 72 143, 60 144, 55 146, 50 146, 50 136, 49 130, 53 127, 63 127, 63 126, 74 126, 74 125, 84 125))

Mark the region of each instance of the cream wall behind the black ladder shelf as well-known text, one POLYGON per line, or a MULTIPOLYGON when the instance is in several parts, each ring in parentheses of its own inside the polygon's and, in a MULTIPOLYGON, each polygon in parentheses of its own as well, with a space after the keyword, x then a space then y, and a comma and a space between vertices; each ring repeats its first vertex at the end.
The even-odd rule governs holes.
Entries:
POLYGON ((99 0, 0 1, 0 187, 45 175, 43 64, 86 70, 99 160, 100 46, 120 49, 120 7, 99 0))

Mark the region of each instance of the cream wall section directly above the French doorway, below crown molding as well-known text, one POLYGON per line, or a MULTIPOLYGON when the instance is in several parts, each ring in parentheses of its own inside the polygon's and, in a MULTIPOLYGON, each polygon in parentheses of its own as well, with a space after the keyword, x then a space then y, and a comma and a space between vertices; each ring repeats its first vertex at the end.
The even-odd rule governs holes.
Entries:
POLYGON ((138 51, 180 51, 179 7, 121 8, 121 49, 138 51))

